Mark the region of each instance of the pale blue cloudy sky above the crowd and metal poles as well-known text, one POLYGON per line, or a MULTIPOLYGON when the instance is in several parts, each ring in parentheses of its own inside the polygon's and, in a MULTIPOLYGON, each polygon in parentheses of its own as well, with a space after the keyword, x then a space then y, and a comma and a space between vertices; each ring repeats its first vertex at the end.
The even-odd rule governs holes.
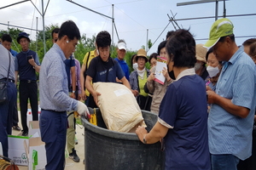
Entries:
MULTIPOLYGON (((14 6, 3 8, 7 5, 22 2, 23 0, 9 0, 0 2, 0 30, 7 30, 8 26, 22 26, 43 30, 42 0, 32 0, 14 6), (36 18, 38 17, 38 25, 36 18)), ((148 50, 148 55, 157 52, 157 47, 166 39, 167 31, 175 31, 168 15, 175 15, 177 25, 194 35, 196 43, 205 43, 210 28, 215 18, 183 20, 201 17, 214 17, 216 3, 200 3, 186 6, 177 6, 177 3, 192 2, 195 0, 72 0, 74 3, 90 8, 100 14, 81 8, 67 0, 43 0, 44 10, 49 2, 44 15, 44 26, 61 26, 66 20, 73 20, 79 27, 81 34, 92 37, 99 31, 108 31, 117 44, 118 37, 113 30, 112 20, 102 16, 113 16, 119 39, 124 39, 128 49, 137 51, 146 46, 147 40, 154 42, 148 50), (162 33, 162 34, 161 34, 162 33)), ((235 26, 234 34, 237 45, 251 37, 256 37, 256 1, 255 0, 226 0, 226 15, 235 26), (252 14, 248 16, 230 16, 252 14), (254 15, 253 15, 254 14, 254 15)), ((222 18, 224 3, 218 2, 218 16, 222 18)), ((177 28, 177 26, 176 26, 177 28)), ((30 38, 35 40, 36 31, 23 29, 30 38)))

